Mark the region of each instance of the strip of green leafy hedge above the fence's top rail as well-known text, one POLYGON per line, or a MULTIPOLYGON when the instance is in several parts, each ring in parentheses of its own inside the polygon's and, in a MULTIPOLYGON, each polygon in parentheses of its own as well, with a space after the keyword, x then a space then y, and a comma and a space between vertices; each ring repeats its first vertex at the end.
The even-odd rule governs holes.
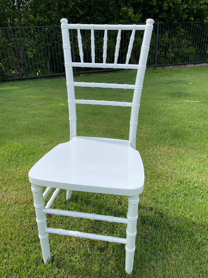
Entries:
POLYGON ((59 25, 72 23, 139 23, 206 21, 206 0, 0 0, 0 26, 59 25))

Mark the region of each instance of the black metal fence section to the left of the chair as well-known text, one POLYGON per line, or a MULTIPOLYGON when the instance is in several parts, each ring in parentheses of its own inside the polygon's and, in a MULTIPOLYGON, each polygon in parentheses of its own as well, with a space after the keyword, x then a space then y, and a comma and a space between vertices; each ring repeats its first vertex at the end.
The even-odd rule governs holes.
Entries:
POLYGON ((0 29, 0 80, 63 75, 60 26, 0 29))

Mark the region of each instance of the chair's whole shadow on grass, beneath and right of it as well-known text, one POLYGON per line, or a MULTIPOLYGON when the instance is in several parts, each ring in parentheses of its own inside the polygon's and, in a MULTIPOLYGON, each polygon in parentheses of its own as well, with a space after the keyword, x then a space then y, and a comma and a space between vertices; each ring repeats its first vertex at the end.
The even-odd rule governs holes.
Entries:
MULTIPOLYGON (((85 212, 95 214, 107 212, 108 215, 126 217, 127 200, 122 196, 115 196, 112 200, 109 195, 74 192, 70 202, 65 200, 63 195, 58 198, 62 198, 61 205, 64 207, 63 209, 76 210, 77 207, 79 207, 77 209, 80 209, 83 204, 83 207, 88 209, 85 212), (93 203, 96 203, 95 207, 92 206, 93 203), (117 205, 118 203, 119 205, 117 205), (119 211, 117 207, 120 207, 119 211)), ((57 203, 60 204, 60 200, 57 200, 57 203)), ((56 205, 56 202, 54 202, 54 205, 56 205)), ((60 207, 60 209, 62 208, 60 207)), ((50 224, 55 225, 56 216, 52 216, 49 221, 52 222, 50 224)), ((124 224, 106 222, 106 225, 103 225, 103 223, 101 224, 101 221, 64 217, 62 228, 97 234, 104 233, 118 237, 125 236, 124 224)), ((176 274, 177 271, 180 274, 180 271, 187 268, 188 275, 194 262, 199 261, 200 256, 203 257, 203 254, 199 255, 201 249, 204 248, 203 250, 205 250, 206 247, 206 239, 203 241, 203 232, 197 222, 188 218, 175 217, 165 210, 146 207, 141 203, 138 210, 135 261, 132 276, 125 274, 125 247, 123 244, 59 237, 57 235, 50 235, 49 241, 52 245, 51 264, 53 267, 65 268, 66 271, 74 275, 80 275, 80 277, 88 277, 87 275, 91 277, 90 275, 95 272, 98 275, 97 277, 150 277, 149 275, 155 275, 163 269, 165 273, 175 268, 176 274), (83 275, 83 273, 85 274, 83 275)), ((186 270, 184 271, 184 274, 186 274, 186 270)), ((158 274, 156 277, 163 277, 163 274, 158 274)), ((174 276, 168 275, 167 277, 174 276)), ((177 277, 186 276, 179 275, 177 277)))

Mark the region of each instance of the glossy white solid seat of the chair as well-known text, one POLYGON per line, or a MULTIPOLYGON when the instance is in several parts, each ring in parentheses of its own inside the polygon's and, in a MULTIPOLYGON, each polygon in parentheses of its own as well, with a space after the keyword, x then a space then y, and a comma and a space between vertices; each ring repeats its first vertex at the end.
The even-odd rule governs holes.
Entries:
POLYGON ((116 195, 137 195, 144 168, 130 141, 75 136, 53 148, 29 171, 36 185, 116 195))

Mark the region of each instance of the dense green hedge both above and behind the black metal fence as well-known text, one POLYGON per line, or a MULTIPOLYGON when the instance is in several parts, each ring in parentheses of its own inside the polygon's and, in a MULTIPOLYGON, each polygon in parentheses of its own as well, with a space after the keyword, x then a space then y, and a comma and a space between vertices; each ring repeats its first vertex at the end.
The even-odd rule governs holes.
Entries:
MULTIPOLYGON (((61 18, 67 18, 69 22, 72 23, 139 23, 145 22, 146 18, 153 18, 155 21, 206 21, 208 15, 208 1, 202 0, 162 0, 162 1, 144 1, 144 0, 132 0, 131 2, 127 0, 68 0, 68 1, 58 1, 58 0, 0 0, 0 27, 14 27, 14 26, 49 26, 49 25, 60 25, 61 18)), ((0 42, 1 42, 1 78, 17 78, 17 77, 29 77, 31 75, 48 75, 52 72, 62 72, 63 64, 60 59, 57 59, 57 65, 50 61, 50 55, 53 53, 60 56, 54 38, 61 41, 60 35, 55 35, 49 33, 48 37, 42 38, 42 34, 38 31, 34 31, 24 38, 23 31, 10 29, 8 31, 0 30, 0 42), (41 38, 40 38, 41 37, 41 38), (45 39, 45 41, 44 41, 45 39), (33 41, 37 43, 31 47, 33 41), (23 41, 23 45, 22 45, 23 41), (46 48, 45 54, 43 55, 43 49, 46 48), (31 61, 34 63, 31 67, 31 61), (59 60, 59 61, 58 61, 59 60), (35 66, 34 66, 35 64, 35 66), (41 65, 41 66, 40 66, 41 65), (42 74, 41 67, 44 68, 45 73, 42 74), (19 69, 23 69, 24 73, 19 69), (60 70, 60 71, 59 71, 60 70)), ((169 38, 169 31, 162 38, 161 44, 167 45, 166 50, 160 48, 158 50, 159 64, 164 56, 168 55, 168 61, 175 59, 175 63, 180 63, 179 56, 174 57, 175 53, 172 52, 173 45, 171 45, 171 40, 169 38), (171 49, 171 51, 170 51, 171 49), (169 59, 170 58, 170 59, 169 59)), ((183 32, 183 28, 177 28, 177 34, 173 38, 173 42, 177 41, 177 37, 183 32)), ((47 33, 47 30, 46 30, 47 33)), ((203 35, 206 30, 203 29, 203 35)), ((46 34, 47 36, 47 34, 46 34)), ((171 36, 171 35, 170 35, 171 36)), ((191 34, 190 42, 193 42, 193 37, 196 37, 196 33, 191 34)), ((98 48, 99 44, 102 44, 102 35, 97 38, 98 48)), ((182 35, 184 45, 188 46, 188 39, 182 35)), ((125 50, 122 50, 122 43, 126 46, 128 45, 128 38, 126 36, 126 41, 121 42, 121 55, 122 59, 125 57, 125 50), (122 53, 123 51, 123 53, 122 53)), ((197 38, 201 38, 200 35, 197 38)), ((205 37, 204 37, 205 38, 205 37)), ((115 39, 114 39, 115 40, 115 39)), ((203 39, 205 40, 205 39, 203 39)), ((89 41, 89 40, 88 40, 89 41)), ((203 41, 204 49, 206 49, 206 41, 203 41)), ((87 42, 87 40, 86 40, 87 42)), ((135 39, 135 42, 141 43, 139 38, 135 39)), ((160 41, 159 41, 160 43, 160 41)), ((188 46, 188 53, 195 53, 195 58, 198 55, 198 50, 196 52, 195 39, 194 43, 191 43, 191 47, 188 46)), ((153 45, 153 43, 152 43, 153 45)), ((154 38, 155 45, 155 38, 154 38)), ((83 47, 87 49, 85 42, 83 42, 83 47)), ((108 47, 110 49, 115 48, 115 43, 108 40, 108 47)), ((174 46, 175 47, 175 46, 174 46)), ((135 51, 135 46, 133 47, 135 51)), ((200 48, 201 50, 201 48, 200 48)), ((108 49, 109 51, 109 49, 108 49)), ((114 50, 113 50, 114 51, 114 50)), ((180 49, 180 51, 187 52, 186 49, 180 49)), ((88 49, 90 53, 90 49, 88 49)), ((134 52, 134 61, 138 61, 138 49, 134 52)), ((206 57, 206 54, 204 55, 206 57)), ((152 61, 154 57, 152 56, 152 61)), ((192 60, 190 60, 192 61, 192 60)), ((99 62, 99 61, 98 61, 99 62)), ((168 62, 169 63, 169 62, 168 62)), ((171 63, 171 62, 170 62, 171 63)), ((148 64, 150 63, 148 60, 148 64)))

